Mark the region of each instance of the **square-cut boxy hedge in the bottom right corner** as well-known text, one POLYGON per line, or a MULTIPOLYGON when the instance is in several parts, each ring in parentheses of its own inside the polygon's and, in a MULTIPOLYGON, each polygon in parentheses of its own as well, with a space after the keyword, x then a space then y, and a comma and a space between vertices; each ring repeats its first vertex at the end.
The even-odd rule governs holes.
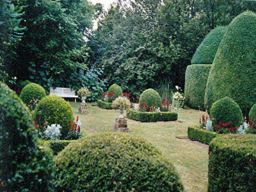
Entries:
POLYGON ((256 136, 236 134, 217 137, 209 146, 208 191, 255 191, 256 136))

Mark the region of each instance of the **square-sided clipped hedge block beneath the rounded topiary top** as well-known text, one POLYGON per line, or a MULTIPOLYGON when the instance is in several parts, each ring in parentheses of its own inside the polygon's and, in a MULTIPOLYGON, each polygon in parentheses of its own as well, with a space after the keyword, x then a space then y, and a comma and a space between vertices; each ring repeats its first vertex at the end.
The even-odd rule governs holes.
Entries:
POLYGON ((204 95, 211 65, 189 65, 185 75, 185 102, 193 109, 204 109, 204 95))

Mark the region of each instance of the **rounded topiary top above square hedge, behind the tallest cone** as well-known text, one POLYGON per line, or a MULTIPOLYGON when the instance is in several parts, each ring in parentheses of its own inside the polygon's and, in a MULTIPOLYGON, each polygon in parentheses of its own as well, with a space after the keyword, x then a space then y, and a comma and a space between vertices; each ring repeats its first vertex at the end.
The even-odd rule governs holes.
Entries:
POLYGON ((212 29, 196 49, 196 52, 191 60, 191 64, 212 64, 220 42, 226 31, 227 26, 220 26, 212 29))

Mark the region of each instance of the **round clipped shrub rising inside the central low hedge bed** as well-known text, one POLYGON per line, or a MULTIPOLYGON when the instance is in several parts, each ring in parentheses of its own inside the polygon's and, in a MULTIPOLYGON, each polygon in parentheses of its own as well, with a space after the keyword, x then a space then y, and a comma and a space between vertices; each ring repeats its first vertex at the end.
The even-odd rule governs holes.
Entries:
POLYGON ((140 106, 144 106, 146 104, 147 111, 150 111, 150 108, 157 109, 161 107, 161 97, 156 90, 148 89, 140 95, 139 104, 140 106))

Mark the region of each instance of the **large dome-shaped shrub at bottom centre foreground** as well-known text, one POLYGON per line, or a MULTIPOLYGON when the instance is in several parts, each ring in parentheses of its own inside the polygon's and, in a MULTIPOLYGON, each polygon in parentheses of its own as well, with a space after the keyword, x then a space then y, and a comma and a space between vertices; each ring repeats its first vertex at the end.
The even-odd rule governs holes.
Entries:
POLYGON ((96 134, 54 157, 58 191, 183 191, 159 150, 134 134, 96 134))

